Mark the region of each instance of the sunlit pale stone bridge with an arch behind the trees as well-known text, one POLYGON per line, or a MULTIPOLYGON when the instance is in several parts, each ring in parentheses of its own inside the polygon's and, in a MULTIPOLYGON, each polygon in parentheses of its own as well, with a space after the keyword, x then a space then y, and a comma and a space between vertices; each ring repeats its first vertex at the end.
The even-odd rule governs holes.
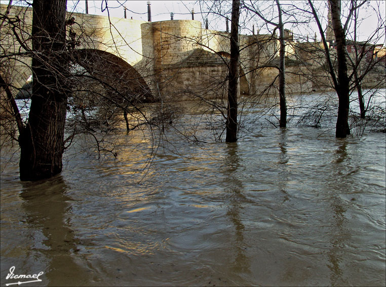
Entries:
MULTIPOLYGON (((1 5, 2 14, 6 9, 6 5, 1 5)), ((32 10, 14 6, 10 17, 16 16, 24 19, 20 22, 20 31, 24 31, 21 37, 27 37, 31 31, 32 10)), ((145 22, 68 12, 66 19, 71 23, 67 30, 76 33, 73 44, 76 42, 74 53, 78 55, 78 64, 100 76, 120 78, 123 93, 182 100, 214 97, 225 92, 228 32, 205 29, 196 20, 145 22)), ((6 53, 21 51, 11 31, 2 29, 1 40, 3 49, 8 49, 6 53)), ((30 39, 26 45, 31 45, 30 39)), ((279 43, 271 34, 240 35, 240 45, 240 92, 256 94, 275 82, 276 68, 256 67, 277 58, 279 43)), ((291 51, 287 53, 291 55, 291 51)), ((22 87, 30 78, 30 61, 20 55, 15 61, 9 61, 7 67, 3 65, 2 75, 13 88, 22 87)), ((297 68, 298 65, 294 65, 294 69, 297 68)), ((291 67, 287 65, 287 69, 291 67)), ((303 82, 299 76, 287 76, 286 80, 287 89, 293 91, 299 90, 303 82)), ((302 89, 307 86, 303 85, 302 89)))

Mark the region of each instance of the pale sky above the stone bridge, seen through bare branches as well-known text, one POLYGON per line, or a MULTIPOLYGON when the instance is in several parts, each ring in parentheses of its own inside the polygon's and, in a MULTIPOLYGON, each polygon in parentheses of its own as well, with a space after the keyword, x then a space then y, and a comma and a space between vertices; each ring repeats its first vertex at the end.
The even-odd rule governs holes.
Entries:
MULTIPOLYGON (((0 0, 2 4, 8 4, 8 0, 0 0)), ((20 1, 13 0, 14 5, 18 5, 20 1)), ((136 20, 147 21, 147 2, 148 1, 125 1, 125 0, 108 0, 107 9, 105 0, 88 0, 88 9, 89 14, 104 15, 107 16, 108 13, 112 17, 124 17, 124 8, 127 9, 126 15, 127 18, 133 17, 136 20)), ((246 1, 247 3, 249 1, 246 1)), ((281 0, 282 5, 296 3, 296 0, 281 0)), ((210 2, 208 2, 210 3, 210 2)), ((220 3, 220 2, 217 2, 220 3)), ((260 1, 259 5, 263 6, 266 4, 266 1, 260 1)), ((370 5, 374 5, 375 1, 370 1, 370 5)), ((228 1, 230 4, 230 1, 228 1)), ((316 6, 320 5, 321 8, 319 12, 323 11, 323 14, 327 14, 326 5, 321 1, 316 1, 316 6)), ((155 21, 164 21, 170 20, 170 12, 174 13, 174 20, 189 20, 191 19, 191 10, 194 9, 195 20, 199 20, 205 23, 205 19, 208 18, 209 28, 213 30, 225 30, 225 19, 221 17, 215 17, 208 13, 201 13, 202 11, 207 11, 205 7, 205 2, 203 1, 150 1, 151 7, 151 20, 155 21)), ((385 1, 381 1, 381 13, 383 19, 386 18, 386 4, 385 1)), ((86 13, 86 1, 85 0, 67 0, 67 11, 73 11, 78 13, 86 13)), ((370 11, 370 10, 369 10, 370 11)), ((377 19, 365 11, 360 15, 364 18, 363 23, 359 26, 359 40, 365 40, 368 37, 369 31, 374 30, 374 24, 377 23, 377 19)), ((230 15, 228 15, 230 18, 230 15)), ((252 25, 254 25, 255 31, 257 26, 259 26, 260 33, 272 32, 274 27, 272 25, 261 26, 257 22, 257 17, 253 19, 250 16, 245 16, 244 20, 247 23, 246 28, 241 32, 243 34, 252 34, 252 25)), ((322 22, 323 27, 326 26, 326 22, 322 22)), ((230 23, 229 23, 230 27, 230 23)), ((301 29, 297 29, 298 25, 287 24, 285 28, 294 31, 294 34, 303 34, 304 37, 309 35, 312 39, 314 38, 315 31, 318 31, 317 27, 313 24, 302 26, 301 29), (296 31, 297 30, 297 31, 296 31)), ((386 30, 381 33, 381 38, 377 40, 377 44, 386 45, 385 43, 385 34, 386 30)), ((317 39, 320 40, 320 35, 318 33, 317 39)))

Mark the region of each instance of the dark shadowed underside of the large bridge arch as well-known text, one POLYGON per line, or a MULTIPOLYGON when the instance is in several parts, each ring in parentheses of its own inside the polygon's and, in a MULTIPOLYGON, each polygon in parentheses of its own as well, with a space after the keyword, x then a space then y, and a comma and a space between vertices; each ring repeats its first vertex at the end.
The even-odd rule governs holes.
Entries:
POLYGON ((152 102, 154 98, 141 74, 122 58, 97 49, 77 49, 72 61, 82 66, 102 85, 135 102, 152 102))

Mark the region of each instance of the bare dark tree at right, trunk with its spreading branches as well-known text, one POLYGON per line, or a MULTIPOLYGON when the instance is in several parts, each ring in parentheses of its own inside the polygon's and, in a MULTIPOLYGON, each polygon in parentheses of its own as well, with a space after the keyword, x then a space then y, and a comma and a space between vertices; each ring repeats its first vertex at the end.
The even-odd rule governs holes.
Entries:
MULTIPOLYGON (((350 94, 351 91, 356 89, 358 91, 359 104, 361 109, 361 116, 364 116, 364 101, 362 94, 361 81, 366 75, 375 70, 376 64, 381 60, 374 60, 373 45, 370 45, 371 40, 374 40, 379 29, 384 29, 384 20, 380 19, 378 28, 370 35, 368 42, 362 43, 360 49, 358 49, 358 41, 356 39, 356 25, 354 24, 354 40, 348 40, 349 27, 352 22, 354 15, 354 22, 356 21, 356 13, 360 7, 368 3, 362 1, 357 3, 356 1, 350 2, 348 9, 348 16, 345 18, 344 24, 341 22, 341 2, 340 1, 329 1, 329 9, 331 13, 331 29, 333 31, 334 42, 330 45, 324 34, 320 18, 315 9, 314 3, 308 0, 308 5, 311 8, 311 13, 318 25, 320 35, 322 37, 322 43, 324 47, 324 57, 326 60, 326 67, 330 79, 332 81, 332 87, 336 91, 338 96, 338 117, 336 121, 336 132, 335 135, 338 138, 344 138, 350 134, 349 126, 349 113, 350 113, 350 94), (356 51, 354 60, 348 52, 348 41, 354 43, 354 50, 356 51), (355 48, 356 47, 356 48, 355 48), (335 52, 336 49, 336 52, 335 52), (360 53, 358 51, 360 50, 360 53), (336 62, 334 61, 336 57, 336 62), (368 63, 366 61, 369 60, 368 63), (350 61, 350 65, 349 65, 350 61), (349 67, 352 70, 349 70, 349 67), (362 67, 365 69, 361 72, 362 67)), ((381 73, 384 73, 381 71, 381 73)), ((379 83, 382 83, 381 79, 379 83)), ((384 83, 384 82, 383 82, 384 83)))

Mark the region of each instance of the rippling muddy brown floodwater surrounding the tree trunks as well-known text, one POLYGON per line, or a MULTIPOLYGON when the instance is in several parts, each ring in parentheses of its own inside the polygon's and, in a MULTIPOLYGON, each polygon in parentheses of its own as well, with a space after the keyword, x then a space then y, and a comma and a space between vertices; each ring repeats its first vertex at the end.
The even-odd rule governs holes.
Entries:
POLYGON ((12 266, 42 286, 385 285, 384 133, 271 125, 151 166, 151 142, 119 137, 117 159, 68 152, 41 182, 2 153, 2 285, 12 266))

